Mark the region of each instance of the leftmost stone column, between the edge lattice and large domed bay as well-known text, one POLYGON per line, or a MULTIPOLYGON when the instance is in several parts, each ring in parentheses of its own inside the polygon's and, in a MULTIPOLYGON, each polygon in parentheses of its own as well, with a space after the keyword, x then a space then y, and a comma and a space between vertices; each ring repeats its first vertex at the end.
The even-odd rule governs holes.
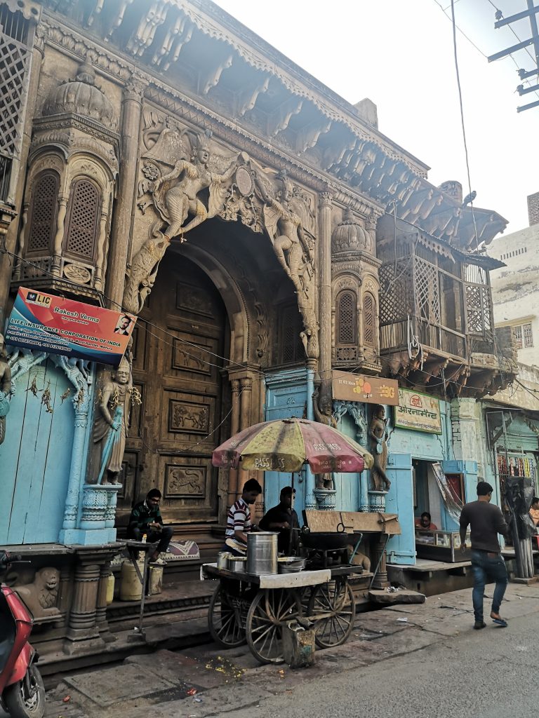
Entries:
MULTIPOLYGON (((34 39, 34 51, 32 54, 32 66, 30 67, 30 76, 28 82, 28 94, 26 108, 26 116, 24 118, 24 127, 22 130, 21 152, 18 160, 17 185, 14 192, 15 211, 19 212, 24 197, 24 185, 26 184, 26 170, 28 162, 28 153, 30 143, 32 141, 32 123, 36 108, 38 88, 40 85, 40 74, 42 60, 45 55, 45 42, 42 37, 36 36, 34 39)), ((14 164, 16 169, 17 164, 14 164)), ((5 234, 6 250, 14 253, 17 250, 17 233, 19 230, 19 222, 17 219, 11 221, 5 234)), ((1 239, 1 238, 0 238, 1 239)), ((4 327, 4 312, 6 308, 7 297, 9 294, 9 281, 11 279, 12 258, 9 255, 0 255, 0 327, 4 327)))

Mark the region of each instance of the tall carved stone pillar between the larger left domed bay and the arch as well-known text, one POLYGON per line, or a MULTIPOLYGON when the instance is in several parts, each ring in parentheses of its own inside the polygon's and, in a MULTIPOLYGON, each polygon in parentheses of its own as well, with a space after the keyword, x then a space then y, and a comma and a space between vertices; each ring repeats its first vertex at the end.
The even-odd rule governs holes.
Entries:
POLYGON ((134 202, 137 192, 142 95, 145 86, 146 83, 139 78, 132 78, 132 83, 124 88, 121 119, 120 182, 106 273, 106 294, 113 303, 112 308, 116 308, 117 305, 121 304, 124 296, 126 264, 131 250, 134 202))

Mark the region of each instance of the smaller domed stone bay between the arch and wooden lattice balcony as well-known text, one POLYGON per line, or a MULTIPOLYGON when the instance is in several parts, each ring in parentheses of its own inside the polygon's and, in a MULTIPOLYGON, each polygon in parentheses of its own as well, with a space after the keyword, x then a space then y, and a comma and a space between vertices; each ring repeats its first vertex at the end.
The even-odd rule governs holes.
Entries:
POLYGON ((379 348, 379 260, 375 220, 344 210, 331 235, 333 366, 382 369, 379 348))

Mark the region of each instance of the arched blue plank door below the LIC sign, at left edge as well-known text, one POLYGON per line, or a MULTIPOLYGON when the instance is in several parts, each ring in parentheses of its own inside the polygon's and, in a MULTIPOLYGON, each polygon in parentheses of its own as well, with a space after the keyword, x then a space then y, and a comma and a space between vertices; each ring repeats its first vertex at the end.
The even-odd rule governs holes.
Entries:
POLYGON ((0 445, 0 544, 58 540, 73 444, 72 398, 65 374, 48 361, 17 383, 0 445), (47 388, 52 414, 42 403, 47 388))

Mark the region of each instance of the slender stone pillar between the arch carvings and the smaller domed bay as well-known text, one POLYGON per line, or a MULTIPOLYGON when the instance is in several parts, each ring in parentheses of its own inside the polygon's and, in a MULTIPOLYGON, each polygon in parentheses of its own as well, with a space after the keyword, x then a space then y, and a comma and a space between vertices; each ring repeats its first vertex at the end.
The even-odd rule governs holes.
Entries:
POLYGON ((320 376, 321 400, 331 396, 331 200, 330 192, 320 195, 320 376))

